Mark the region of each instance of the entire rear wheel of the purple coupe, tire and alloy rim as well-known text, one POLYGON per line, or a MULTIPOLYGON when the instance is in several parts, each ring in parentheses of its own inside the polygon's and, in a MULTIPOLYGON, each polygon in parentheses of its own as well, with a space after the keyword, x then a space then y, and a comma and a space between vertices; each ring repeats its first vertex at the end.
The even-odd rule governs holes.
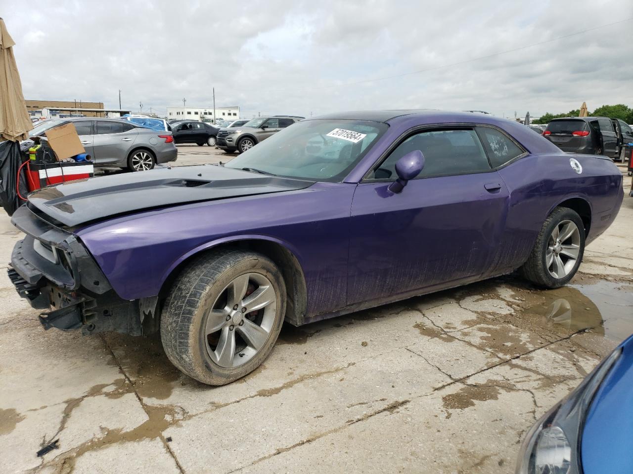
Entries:
POLYGON ((584 250, 582 219, 572 209, 557 207, 545 219, 521 272, 534 284, 560 288, 576 274, 584 250))

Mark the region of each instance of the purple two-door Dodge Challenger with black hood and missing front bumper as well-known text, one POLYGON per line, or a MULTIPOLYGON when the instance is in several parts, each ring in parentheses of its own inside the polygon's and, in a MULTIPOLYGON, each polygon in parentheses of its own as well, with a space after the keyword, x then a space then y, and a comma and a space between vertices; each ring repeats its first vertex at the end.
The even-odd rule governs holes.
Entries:
POLYGON ((205 384, 301 325, 520 269, 566 284, 622 174, 507 119, 439 111, 300 121, 224 166, 35 191, 9 277, 45 329, 160 331, 205 384))

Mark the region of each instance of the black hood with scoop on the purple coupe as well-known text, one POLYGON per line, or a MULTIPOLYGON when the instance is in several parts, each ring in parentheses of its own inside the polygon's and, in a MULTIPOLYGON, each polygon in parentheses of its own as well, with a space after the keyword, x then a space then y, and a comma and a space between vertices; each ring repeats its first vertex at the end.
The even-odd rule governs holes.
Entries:
POLYGON ((223 166, 178 166, 68 181, 28 195, 65 226, 156 207, 307 188, 312 181, 278 178, 223 166))

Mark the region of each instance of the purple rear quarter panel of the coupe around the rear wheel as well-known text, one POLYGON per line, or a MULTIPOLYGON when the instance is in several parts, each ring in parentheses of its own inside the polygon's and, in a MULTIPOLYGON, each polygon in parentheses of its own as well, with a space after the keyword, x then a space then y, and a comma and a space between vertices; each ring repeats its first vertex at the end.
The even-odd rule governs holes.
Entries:
POLYGON ((591 207, 587 242, 613 222, 622 203, 622 174, 610 160, 591 155, 532 154, 499 169, 510 202, 506 229, 491 274, 520 267, 549 213, 561 202, 582 198, 591 207), (577 174, 570 158, 582 165, 577 174))

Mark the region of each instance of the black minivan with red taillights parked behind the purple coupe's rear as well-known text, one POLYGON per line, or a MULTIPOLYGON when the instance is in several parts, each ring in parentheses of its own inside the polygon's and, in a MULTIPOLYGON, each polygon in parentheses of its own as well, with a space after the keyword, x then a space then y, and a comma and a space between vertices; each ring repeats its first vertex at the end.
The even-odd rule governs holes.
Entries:
POLYGON ((608 117, 553 119, 543 136, 565 152, 605 155, 622 159, 623 145, 633 142, 630 126, 608 117))

